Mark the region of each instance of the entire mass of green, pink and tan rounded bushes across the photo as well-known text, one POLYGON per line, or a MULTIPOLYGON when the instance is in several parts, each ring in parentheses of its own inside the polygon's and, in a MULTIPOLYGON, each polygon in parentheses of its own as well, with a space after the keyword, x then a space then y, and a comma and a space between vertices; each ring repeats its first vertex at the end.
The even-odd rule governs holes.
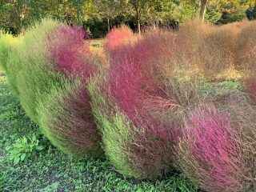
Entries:
POLYGON ((43 20, 0 38, 0 62, 26 114, 78 158, 105 156, 126 177, 176 170, 206 191, 256 189, 255 22, 103 40, 43 20))

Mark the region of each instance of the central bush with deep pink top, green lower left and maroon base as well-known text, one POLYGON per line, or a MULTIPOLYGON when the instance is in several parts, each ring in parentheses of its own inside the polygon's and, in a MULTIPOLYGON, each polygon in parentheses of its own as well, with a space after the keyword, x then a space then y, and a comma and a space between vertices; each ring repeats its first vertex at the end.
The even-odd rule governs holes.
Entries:
POLYGON ((166 126, 152 114, 163 104, 174 106, 158 80, 161 53, 169 46, 165 36, 154 34, 134 45, 123 44, 119 50, 125 51, 111 55, 109 73, 90 84, 106 157, 127 177, 156 178, 170 170, 176 125, 170 119, 166 126))

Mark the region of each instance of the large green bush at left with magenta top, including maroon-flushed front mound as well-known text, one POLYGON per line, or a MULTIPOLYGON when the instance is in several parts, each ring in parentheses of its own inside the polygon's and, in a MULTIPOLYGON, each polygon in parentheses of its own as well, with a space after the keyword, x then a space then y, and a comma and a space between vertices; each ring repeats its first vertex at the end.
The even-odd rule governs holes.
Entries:
POLYGON ((102 154, 86 85, 96 70, 78 28, 43 20, 6 59, 8 81, 26 114, 66 154, 102 154))

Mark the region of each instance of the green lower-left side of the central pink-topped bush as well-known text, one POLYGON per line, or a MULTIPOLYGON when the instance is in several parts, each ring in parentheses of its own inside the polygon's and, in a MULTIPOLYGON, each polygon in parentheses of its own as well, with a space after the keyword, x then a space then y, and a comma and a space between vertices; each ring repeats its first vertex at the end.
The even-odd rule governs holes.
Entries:
POLYGON ((156 138, 154 140, 152 135, 146 138, 144 127, 135 126, 134 122, 126 117, 126 114, 118 110, 118 106, 110 103, 106 94, 103 94, 98 88, 102 87, 99 85, 103 79, 101 76, 94 78, 90 82, 88 90, 92 98, 91 106, 94 119, 97 122, 98 130, 102 134, 102 148, 105 151, 106 158, 121 174, 128 178, 152 179, 157 178, 160 173, 162 174, 162 171, 169 171, 170 158, 166 160, 167 158, 162 158, 161 154, 155 155, 157 160, 145 158, 154 154, 152 149, 155 148, 152 146, 152 142, 158 142, 161 139, 156 138), (157 164, 158 162, 162 162, 159 163, 160 166, 152 166, 153 163, 157 164))

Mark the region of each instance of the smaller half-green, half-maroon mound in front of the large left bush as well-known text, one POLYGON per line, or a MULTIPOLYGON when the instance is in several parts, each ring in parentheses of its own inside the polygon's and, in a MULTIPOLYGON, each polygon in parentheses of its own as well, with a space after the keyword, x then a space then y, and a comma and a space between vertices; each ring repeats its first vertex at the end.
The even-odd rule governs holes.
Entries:
POLYGON ((42 133, 66 154, 88 158, 102 154, 101 140, 84 83, 66 82, 54 87, 38 107, 42 133))

